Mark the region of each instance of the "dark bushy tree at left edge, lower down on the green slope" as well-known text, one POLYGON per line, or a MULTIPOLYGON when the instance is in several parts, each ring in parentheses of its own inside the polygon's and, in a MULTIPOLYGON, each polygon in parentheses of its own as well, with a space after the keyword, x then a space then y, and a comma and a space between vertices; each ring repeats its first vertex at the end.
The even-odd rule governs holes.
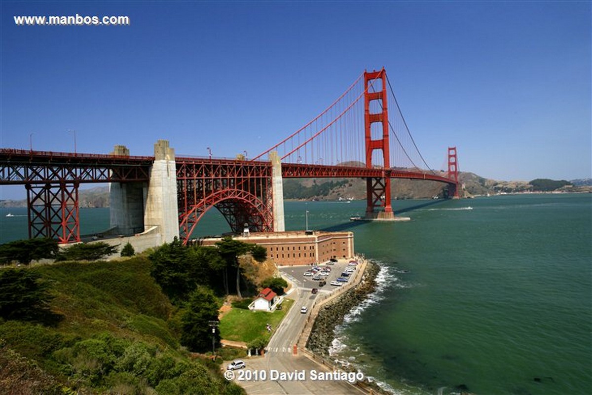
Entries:
POLYGON ((0 271, 0 317, 44 321, 52 317, 49 284, 31 270, 0 271))

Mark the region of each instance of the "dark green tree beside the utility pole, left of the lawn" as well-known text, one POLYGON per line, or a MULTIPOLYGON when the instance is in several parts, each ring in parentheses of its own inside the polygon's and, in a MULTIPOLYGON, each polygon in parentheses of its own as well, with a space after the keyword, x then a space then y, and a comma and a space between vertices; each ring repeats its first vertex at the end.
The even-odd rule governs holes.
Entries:
POLYGON ((210 321, 218 320, 220 301, 214 292, 203 286, 197 287, 189 296, 184 313, 181 316, 181 344, 191 351, 203 352, 210 349, 212 337, 220 344, 220 334, 212 334, 210 321))

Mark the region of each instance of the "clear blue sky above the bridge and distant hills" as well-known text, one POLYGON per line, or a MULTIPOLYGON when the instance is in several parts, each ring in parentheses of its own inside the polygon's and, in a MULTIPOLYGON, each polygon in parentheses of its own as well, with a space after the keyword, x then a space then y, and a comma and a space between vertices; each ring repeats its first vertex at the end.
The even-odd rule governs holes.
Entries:
POLYGON ((384 66, 430 166, 591 176, 589 1, 0 4, 1 147, 253 156, 384 66), (131 24, 13 18, 75 14, 131 24))

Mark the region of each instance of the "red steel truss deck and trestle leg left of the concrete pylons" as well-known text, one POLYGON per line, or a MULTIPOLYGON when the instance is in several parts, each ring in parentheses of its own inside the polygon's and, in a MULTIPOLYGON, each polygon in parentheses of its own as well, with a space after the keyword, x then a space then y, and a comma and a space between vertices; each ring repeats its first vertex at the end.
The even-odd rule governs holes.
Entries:
POLYGON ((29 237, 80 241, 81 183, 149 179, 153 157, 0 149, 0 184, 27 189, 29 237))

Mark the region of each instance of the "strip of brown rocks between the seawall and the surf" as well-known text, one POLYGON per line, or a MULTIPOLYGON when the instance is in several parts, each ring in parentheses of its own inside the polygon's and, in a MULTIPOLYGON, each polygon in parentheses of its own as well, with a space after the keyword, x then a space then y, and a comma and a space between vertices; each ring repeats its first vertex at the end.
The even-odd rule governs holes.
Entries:
POLYGON ((368 261, 362 281, 358 286, 343 293, 342 296, 324 305, 314 320, 313 329, 308 338, 306 348, 317 355, 329 357, 329 348, 335 338, 335 328, 343 323, 343 318, 350 310, 366 299, 376 289, 376 277, 380 267, 368 261))

